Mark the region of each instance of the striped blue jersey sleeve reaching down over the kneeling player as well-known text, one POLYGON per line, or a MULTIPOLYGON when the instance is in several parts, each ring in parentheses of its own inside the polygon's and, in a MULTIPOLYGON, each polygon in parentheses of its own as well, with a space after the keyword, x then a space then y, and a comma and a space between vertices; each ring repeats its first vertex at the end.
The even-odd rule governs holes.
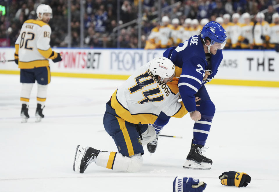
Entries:
POLYGON ((178 88, 187 111, 196 110, 195 94, 202 86, 205 75, 205 64, 200 57, 191 58, 183 62, 182 74, 178 81, 178 88))

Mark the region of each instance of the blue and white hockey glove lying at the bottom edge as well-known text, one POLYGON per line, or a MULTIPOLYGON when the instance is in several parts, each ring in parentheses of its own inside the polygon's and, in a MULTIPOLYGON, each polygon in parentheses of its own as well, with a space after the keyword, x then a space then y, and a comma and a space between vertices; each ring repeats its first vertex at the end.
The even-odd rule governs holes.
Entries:
POLYGON ((175 177, 173 181, 173 192, 202 192, 205 187, 206 183, 192 177, 175 177))

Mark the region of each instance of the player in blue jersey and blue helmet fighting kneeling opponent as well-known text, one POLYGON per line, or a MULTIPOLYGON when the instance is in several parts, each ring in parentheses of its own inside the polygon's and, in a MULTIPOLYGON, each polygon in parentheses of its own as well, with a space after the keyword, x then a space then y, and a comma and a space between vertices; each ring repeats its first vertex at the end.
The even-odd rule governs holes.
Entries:
MULTIPOLYGON (((225 46, 226 38, 225 29, 219 23, 211 21, 202 28, 200 35, 194 35, 164 52, 164 57, 169 58, 176 66, 175 77, 182 101, 191 119, 195 121, 191 149, 184 168, 209 170, 212 165, 212 160, 202 155, 215 113, 215 106, 210 100, 205 83, 211 81, 218 71, 223 59, 221 49, 225 46), (195 97, 201 99, 197 102, 200 105, 198 107, 195 97)), ((149 152, 154 153, 156 150, 159 131, 168 123, 169 118, 161 113, 154 122, 157 135, 147 145, 149 152)))

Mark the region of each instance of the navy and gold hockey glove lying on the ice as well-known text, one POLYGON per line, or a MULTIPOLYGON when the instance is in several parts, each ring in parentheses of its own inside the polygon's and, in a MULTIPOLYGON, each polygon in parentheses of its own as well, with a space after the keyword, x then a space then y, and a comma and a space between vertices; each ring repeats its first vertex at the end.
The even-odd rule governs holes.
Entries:
POLYGON ((237 187, 246 187, 251 181, 251 177, 248 174, 236 171, 223 172, 219 176, 219 179, 221 180, 222 185, 235 185, 237 187))

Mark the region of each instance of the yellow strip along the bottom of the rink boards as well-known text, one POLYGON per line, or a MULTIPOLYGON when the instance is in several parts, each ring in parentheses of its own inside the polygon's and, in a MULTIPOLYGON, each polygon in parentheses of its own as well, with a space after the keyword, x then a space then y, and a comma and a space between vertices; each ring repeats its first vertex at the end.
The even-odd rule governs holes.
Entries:
MULTIPOLYGON (((0 70, 0 74, 16 74, 16 70, 0 70)), ((51 72, 51 76, 56 77, 77 77, 77 78, 97 78, 97 79, 121 79, 126 80, 129 75, 111 75, 111 74, 86 74, 86 73, 59 73, 51 72)), ((253 80, 234 80, 234 79, 213 79, 208 84, 214 85, 239 85, 239 86, 257 86, 257 87, 279 87, 279 81, 253 81, 253 80)))

